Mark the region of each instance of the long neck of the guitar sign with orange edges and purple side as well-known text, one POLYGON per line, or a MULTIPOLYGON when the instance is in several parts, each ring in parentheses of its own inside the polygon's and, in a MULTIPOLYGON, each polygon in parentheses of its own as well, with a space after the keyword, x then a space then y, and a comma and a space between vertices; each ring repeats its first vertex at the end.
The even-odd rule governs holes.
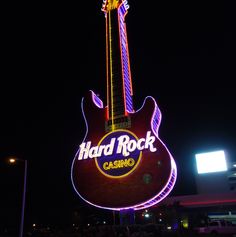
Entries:
POLYGON ((106 13, 107 105, 109 120, 133 111, 126 25, 127 9, 120 5, 106 13))

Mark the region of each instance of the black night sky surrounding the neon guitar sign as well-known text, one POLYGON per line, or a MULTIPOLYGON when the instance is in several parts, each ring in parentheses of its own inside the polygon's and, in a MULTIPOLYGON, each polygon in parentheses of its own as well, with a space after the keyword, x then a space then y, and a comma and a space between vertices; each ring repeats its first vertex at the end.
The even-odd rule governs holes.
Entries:
MULTIPOLYGON (((27 159, 29 222, 63 220, 84 204, 70 181, 85 134, 80 102, 89 89, 105 98, 102 1, 64 4, 4 8, 1 209, 19 212, 23 178, 23 167, 9 167, 4 159, 27 159)), ((129 4, 135 109, 147 95, 156 99, 163 115, 159 135, 178 166, 172 195, 192 193, 195 153, 225 149, 236 160, 234 8, 215 1, 129 4)))

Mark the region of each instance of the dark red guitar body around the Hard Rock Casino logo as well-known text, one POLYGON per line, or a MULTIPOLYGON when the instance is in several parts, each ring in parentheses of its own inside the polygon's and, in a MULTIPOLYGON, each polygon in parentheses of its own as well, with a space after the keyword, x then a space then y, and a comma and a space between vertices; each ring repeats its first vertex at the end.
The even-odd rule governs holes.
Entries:
MULTIPOLYGON (((87 125, 84 142, 91 141, 92 146, 96 146, 107 134, 104 131, 106 108, 97 107, 90 92, 82 102, 82 109, 87 125)), ((135 134, 137 138, 145 137, 147 131, 151 131, 151 135, 155 136, 153 145, 156 151, 142 151, 136 168, 119 178, 104 175, 98 169, 96 159, 78 160, 76 155, 72 165, 72 182, 79 196, 92 205, 115 210, 141 208, 144 203, 155 201, 160 195, 166 196, 166 184, 176 179, 173 158, 158 138, 158 131, 153 131, 154 127, 158 129, 161 117, 155 100, 147 97, 142 108, 128 116, 131 127, 124 130, 135 134)))

